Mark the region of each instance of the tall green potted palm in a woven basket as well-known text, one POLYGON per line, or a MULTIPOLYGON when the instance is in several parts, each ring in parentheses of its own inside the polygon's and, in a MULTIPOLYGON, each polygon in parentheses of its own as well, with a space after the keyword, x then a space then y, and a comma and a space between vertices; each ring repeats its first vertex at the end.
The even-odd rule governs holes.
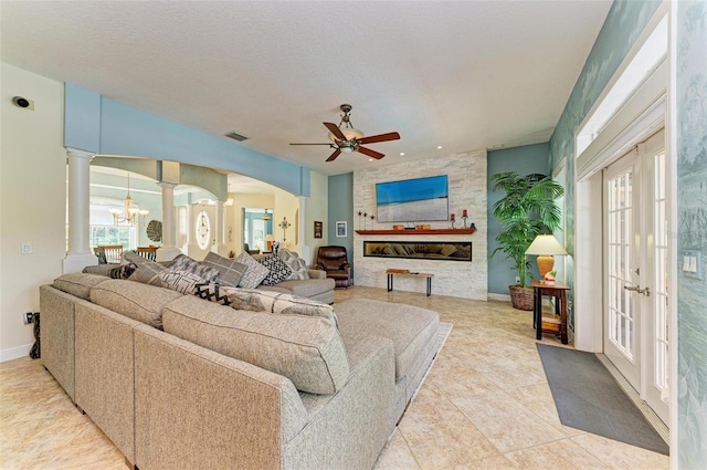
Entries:
POLYGON ((532 289, 528 288, 530 263, 526 251, 541 233, 552 233, 560 227, 561 212, 555 200, 564 194, 561 185, 540 174, 520 176, 516 171, 493 175, 494 191, 505 196, 492 207, 494 217, 502 224, 496 237, 499 247, 490 252, 490 260, 499 251, 514 263, 520 282, 509 285, 510 301, 515 309, 532 310, 532 289))

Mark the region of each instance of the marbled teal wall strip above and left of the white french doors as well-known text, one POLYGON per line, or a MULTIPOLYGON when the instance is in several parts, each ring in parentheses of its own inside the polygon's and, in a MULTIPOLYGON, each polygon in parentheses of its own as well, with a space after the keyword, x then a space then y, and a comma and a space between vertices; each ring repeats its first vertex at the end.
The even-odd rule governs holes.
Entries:
MULTIPOLYGON (((573 179, 574 133, 659 4, 659 1, 616 0, 611 6, 604 25, 599 32, 550 138, 550 173, 564 160, 568 180, 573 179)), ((574 185, 567 185, 564 248, 570 255, 564 257, 564 275, 567 283, 572 288, 574 286, 574 185)), ((569 297, 573 300, 573 291, 570 291, 569 297)), ((573 310, 569 315, 568 323, 573 325, 573 310)))

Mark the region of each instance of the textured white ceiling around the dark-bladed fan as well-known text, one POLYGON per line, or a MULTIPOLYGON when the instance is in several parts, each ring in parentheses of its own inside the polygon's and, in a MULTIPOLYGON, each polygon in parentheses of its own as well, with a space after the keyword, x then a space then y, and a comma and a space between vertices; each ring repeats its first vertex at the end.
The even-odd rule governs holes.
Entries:
POLYGON ((2 1, 3 62, 336 175, 547 142, 611 1, 2 1), (387 155, 325 163, 341 103, 387 155), (442 149, 437 149, 442 146, 442 149), (404 156, 400 156, 404 153, 404 156))

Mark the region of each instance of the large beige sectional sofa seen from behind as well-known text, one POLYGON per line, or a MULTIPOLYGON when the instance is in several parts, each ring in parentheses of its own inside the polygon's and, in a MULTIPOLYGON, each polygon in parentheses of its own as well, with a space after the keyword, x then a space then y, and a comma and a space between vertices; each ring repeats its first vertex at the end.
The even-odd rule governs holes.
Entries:
POLYGON ((370 469, 452 327, 403 304, 251 312, 95 274, 40 303, 44 366, 141 470, 370 469))

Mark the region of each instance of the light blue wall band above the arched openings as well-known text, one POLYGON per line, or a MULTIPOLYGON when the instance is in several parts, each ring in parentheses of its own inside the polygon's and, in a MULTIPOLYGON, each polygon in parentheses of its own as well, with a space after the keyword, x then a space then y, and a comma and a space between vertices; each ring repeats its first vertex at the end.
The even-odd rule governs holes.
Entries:
POLYGON ((103 155, 126 155, 220 168, 309 196, 309 168, 125 106, 65 84, 64 145, 103 155))

